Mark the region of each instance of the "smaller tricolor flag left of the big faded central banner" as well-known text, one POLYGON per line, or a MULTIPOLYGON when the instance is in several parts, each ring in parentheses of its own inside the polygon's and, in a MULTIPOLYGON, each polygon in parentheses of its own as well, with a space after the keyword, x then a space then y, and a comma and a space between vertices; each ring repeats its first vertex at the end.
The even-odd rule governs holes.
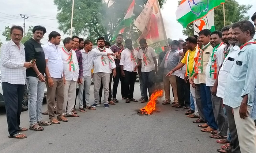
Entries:
POLYGON ((124 19, 120 22, 118 25, 118 28, 116 32, 114 33, 114 36, 112 40, 116 39, 116 36, 120 33, 124 32, 124 28, 130 27, 132 24, 132 15, 133 15, 133 9, 134 9, 135 0, 132 0, 132 4, 129 6, 126 15, 124 16, 124 19))

